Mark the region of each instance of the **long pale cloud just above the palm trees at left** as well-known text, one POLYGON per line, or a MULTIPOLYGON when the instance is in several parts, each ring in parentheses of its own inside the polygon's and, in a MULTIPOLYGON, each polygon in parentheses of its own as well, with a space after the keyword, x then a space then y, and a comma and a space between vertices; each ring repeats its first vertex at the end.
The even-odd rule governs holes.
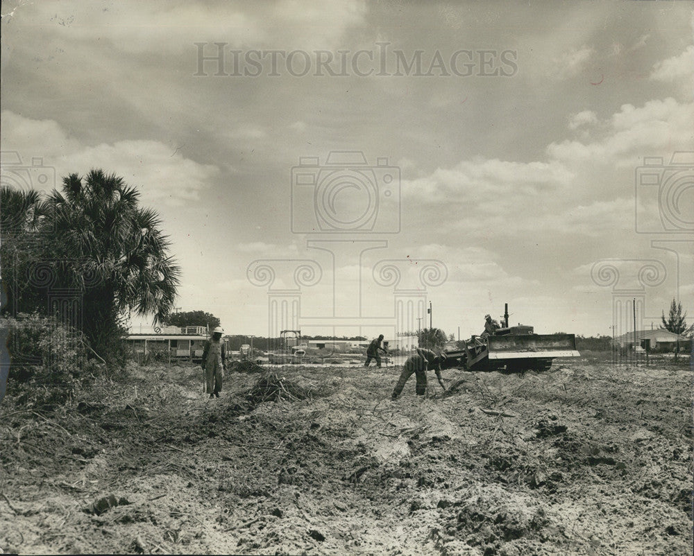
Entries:
MULTIPOLYGON (((16 151, 24 164, 42 157, 44 166, 53 166, 57 181, 69 173, 84 175, 103 168, 137 186, 144 202, 182 205, 198 199, 200 191, 219 176, 219 168, 198 164, 159 141, 129 140, 87 146, 69 137, 52 120, 33 120, 4 110, 1 141, 3 150, 16 151)), ((47 183, 40 189, 52 189, 47 183)))

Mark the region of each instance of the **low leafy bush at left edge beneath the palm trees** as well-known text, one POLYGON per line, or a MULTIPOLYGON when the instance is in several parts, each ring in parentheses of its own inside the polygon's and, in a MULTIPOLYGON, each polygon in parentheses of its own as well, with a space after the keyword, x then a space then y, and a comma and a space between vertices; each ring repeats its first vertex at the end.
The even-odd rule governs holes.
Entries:
POLYGON ((81 332, 36 313, 2 321, 10 333, 8 394, 19 403, 65 403, 78 388, 105 373, 81 332))

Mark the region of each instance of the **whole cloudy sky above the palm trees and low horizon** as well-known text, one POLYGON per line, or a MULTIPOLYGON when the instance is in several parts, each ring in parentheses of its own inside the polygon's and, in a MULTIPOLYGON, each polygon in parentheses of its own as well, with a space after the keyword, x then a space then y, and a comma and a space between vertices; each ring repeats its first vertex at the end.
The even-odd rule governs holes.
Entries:
POLYGON ((226 333, 694 319, 690 3, 1 9, 3 182, 124 177, 226 333))

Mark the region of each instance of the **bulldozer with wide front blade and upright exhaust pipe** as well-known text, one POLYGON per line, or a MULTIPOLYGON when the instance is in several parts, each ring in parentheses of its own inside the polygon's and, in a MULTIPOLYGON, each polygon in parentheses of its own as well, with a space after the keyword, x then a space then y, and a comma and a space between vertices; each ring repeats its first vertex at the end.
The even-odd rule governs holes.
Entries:
POLYGON ((548 371, 557 357, 579 357, 574 334, 536 334, 533 327, 509 327, 509 304, 504 306, 503 326, 482 336, 473 336, 462 349, 444 351, 442 369, 469 371, 548 371))

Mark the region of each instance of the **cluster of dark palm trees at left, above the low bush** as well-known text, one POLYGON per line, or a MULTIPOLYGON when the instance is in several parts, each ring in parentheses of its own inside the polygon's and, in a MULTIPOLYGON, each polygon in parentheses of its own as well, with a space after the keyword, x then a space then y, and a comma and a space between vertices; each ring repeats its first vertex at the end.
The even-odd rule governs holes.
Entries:
POLYGON ((0 189, 4 317, 42 315, 79 331, 94 355, 121 365, 124 324, 165 324, 180 267, 153 209, 121 177, 75 173, 50 193, 0 189))

